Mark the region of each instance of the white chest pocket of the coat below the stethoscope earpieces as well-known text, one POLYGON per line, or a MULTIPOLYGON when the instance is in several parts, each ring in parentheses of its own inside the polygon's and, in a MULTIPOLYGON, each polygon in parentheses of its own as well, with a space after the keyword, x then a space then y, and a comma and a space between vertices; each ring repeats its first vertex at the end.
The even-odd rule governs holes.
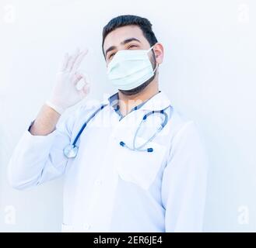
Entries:
MULTIPOLYGON (((142 143, 146 140, 138 138, 142 143)), ((129 150, 116 143, 114 167, 124 181, 129 181, 147 190, 155 181, 160 171, 166 153, 166 146, 150 142, 146 145, 153 148, 153 152, 129 150)))

